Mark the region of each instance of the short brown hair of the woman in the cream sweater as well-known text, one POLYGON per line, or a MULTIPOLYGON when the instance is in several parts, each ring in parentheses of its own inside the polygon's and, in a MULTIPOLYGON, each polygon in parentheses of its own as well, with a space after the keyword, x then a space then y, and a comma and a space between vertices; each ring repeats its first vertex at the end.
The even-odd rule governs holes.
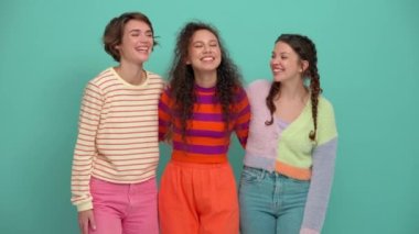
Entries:
POLYGON ((108 25, 105 27, 103 43, 106 53, 108 53, 116 62, 120 62, 119 51, 116 48, 117 45, 120 45, 122 42, 123 29, 128 21, 138 20, 147 23, 151 33, 153 34, 153 47, 158 45, 158 42, 154 37, 154 30, 149 18, 141 12, 126 12, 121 15, 114 18, 109 21, 108 25))

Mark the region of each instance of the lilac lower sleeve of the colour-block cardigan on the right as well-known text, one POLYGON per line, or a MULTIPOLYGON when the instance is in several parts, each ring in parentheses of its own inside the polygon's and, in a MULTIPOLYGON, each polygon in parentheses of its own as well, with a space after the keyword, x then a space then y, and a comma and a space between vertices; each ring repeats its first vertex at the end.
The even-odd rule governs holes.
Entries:
POLYGON ((337 138, 314 148, 313 167, 300 234, 318 234, 325 219, 336 159, 337 138))

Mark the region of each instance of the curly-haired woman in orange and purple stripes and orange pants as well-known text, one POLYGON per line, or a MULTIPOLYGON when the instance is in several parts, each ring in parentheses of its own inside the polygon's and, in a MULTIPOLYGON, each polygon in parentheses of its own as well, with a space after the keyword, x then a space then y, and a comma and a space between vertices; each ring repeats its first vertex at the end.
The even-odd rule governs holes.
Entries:
POLYGON ((172 142, 159 193, 161 232, 238 233, 227 152, 233 131, 246 145, 250 110, 213 26, 190 22, 181 30, 169 77, 159 104, 160 140, 172 142))

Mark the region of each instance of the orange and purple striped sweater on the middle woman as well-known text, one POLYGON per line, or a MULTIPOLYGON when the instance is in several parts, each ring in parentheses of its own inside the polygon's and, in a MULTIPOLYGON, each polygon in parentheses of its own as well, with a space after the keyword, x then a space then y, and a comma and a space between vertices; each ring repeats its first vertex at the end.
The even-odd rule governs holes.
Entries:
POLYGON ((243 88, 237 89, 227 130, 222 105, 215 96, 215 87, 203 88, 195 85, 195 94, 192 118, 186 122, 185 137, 182 138, 181 123, 174 111, 170 88, 162 93, 159 103, 159 138, 164 140, 171 131, 173 160, 200 164, 225 163, 233 131, 244 147, 247 142, 250 121, 247 94, 243 88))

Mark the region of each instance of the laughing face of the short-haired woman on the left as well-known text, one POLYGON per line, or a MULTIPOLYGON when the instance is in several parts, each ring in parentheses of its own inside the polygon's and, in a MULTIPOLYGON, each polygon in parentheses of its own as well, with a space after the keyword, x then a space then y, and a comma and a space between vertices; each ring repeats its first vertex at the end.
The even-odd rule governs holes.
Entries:
POLYGON ((123 27, 122 41, 116 48, 121 63, 143 64, 149 59, 153 47, 153 33, 149 24, 130 20, 123 27))

